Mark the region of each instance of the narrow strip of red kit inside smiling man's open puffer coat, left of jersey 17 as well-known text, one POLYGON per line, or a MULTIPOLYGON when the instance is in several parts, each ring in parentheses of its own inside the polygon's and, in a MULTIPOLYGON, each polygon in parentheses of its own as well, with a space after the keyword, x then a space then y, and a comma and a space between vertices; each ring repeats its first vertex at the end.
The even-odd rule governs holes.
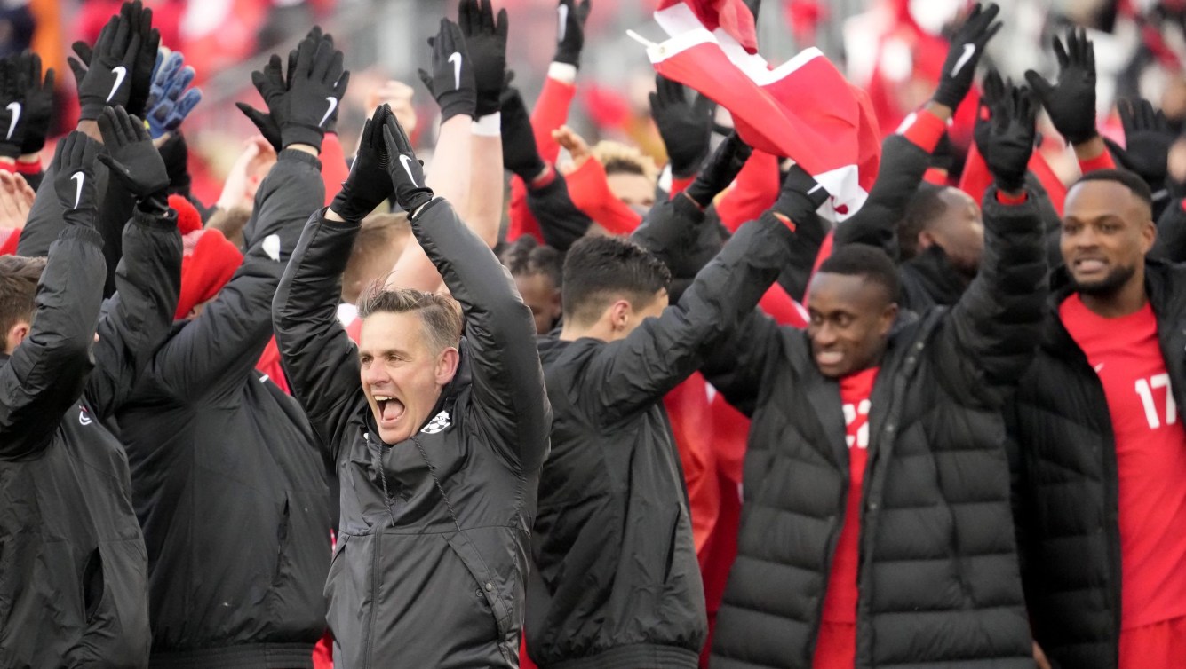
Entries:
POLYGON ((856 658, 856 572, 861 528, 861 491, 869 448, 869 395, 878 367, 862 369, 840 380, 848 445, 848 503, 836 553, 828 572, 823 619, 816 641, 814 669, 852 669, 856 658))

